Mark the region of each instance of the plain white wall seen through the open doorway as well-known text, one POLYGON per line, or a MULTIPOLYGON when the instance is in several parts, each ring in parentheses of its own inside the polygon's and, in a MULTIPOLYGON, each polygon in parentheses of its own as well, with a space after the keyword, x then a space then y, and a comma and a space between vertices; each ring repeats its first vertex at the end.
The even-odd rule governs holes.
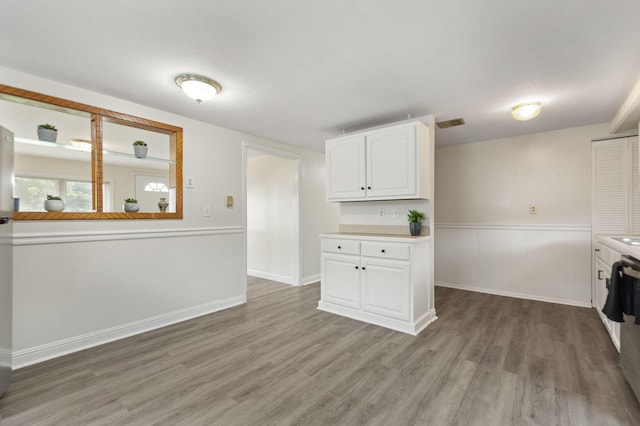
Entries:
POLYGON ((247 272, 295 284, 294 160, 247 158, 247 272))

